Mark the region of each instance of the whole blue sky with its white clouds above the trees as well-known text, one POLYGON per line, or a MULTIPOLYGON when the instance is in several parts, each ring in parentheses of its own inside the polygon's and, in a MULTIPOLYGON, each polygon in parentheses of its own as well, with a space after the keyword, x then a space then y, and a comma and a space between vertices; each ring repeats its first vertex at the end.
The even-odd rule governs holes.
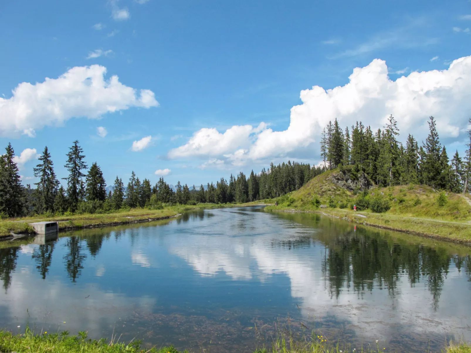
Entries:
POLYGON ((335 117, 379 128, 392 113, 401 138, 422 140, 434 115, 461 152, 470 27, 466 0, 2 2, 0 145, 25 151, 32 183, 45 145, 64 177, 78 139, 108 185, 131 170, 199 185, 271 160, 316 164, 335 117))

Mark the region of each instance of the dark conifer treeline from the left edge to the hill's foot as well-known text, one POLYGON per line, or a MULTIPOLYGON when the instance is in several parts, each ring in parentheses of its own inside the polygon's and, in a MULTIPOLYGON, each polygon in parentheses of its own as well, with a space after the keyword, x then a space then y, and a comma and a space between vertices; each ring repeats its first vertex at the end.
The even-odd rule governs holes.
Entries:
POLYGON ((49 215, 65 213, 103 213, 120 209, 143 208, 161 209, 164 205, 196 203, 233 203, 256 201, 278 197, 299 189, 311 178, 322 173, 324 168, 309 164, 288 161, 260 174, 252 170, 250 176, 240 172, 221 178, 216 185, 188 187, 180 182, 173 191, 163 177, 155 185, 148 179, 140 180, 131 173, 127 185, 116 176, 112 191, 106 192, 103 172, 94 162, 89 167, 78 141, 74 141, 66 154, 65 168, 69 175, 59 182, 54 172, 54 164, 48 147, 34 168, 38 182, 24 187, 20 182, 18 167, 14 160, 15 152, 8 144, 6 153, 0 157, 0 216, 20 217, 29 215, 49 215))

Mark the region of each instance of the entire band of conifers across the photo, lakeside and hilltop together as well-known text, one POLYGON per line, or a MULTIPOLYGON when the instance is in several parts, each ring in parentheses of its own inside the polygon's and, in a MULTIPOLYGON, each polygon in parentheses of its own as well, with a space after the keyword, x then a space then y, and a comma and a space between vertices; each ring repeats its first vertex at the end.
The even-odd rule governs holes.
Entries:
MULTIPOLYGON (((471 123, 471 119, 470 119, 471 123)), ((424 184, 454 193, 469 191, 471 171, 471 131, 468 149, 461 157, 456 151, 448 157, 440 143, 434 117, 428 121, 429 135, 419 142, 408 134, 400 142, 397 121, 391 115, 376 131, 362 122, 341 128, 334 120, 323 129, 320 140, 321 161, 317 166, 288 161, 271 163, 260 173, 239 172, 228 179, 206 185, 182 184, 174 190, 161 177, 157 183, 139 179, 132 171, 129 180, 116 176, 112 191, 97 162, 89 165, 79 141, 73 141, 65 154, 68 176, 58 180, 54 163, 45 146, 34 168, 38 182, 22 185, 15 152, 11 144, 0 158, 0 215, 21 217, 65 213, 106 213, 120 209, 163 208, 166 204, 244 203, 272 199, 298 190, 310 179, 328 169, 339 168, 352 177, 368 178, 377 186, 424 184)), ((313 154, 314 151, 313 151, 313 154)))

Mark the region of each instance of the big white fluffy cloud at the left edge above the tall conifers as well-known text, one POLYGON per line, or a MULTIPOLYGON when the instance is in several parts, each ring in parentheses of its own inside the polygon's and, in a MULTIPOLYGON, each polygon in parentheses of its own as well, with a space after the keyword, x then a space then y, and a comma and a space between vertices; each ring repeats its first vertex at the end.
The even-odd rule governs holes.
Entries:
POLYGON ((57 79, 20 83, 11 98, 0 97, 0 136, 25 134, 44 126, 60 126, 73 117, 100 118, 130 107, 158 106, 154 93, 123 85, 118 76, 105 79, 106 67, 77 66, 57 79))

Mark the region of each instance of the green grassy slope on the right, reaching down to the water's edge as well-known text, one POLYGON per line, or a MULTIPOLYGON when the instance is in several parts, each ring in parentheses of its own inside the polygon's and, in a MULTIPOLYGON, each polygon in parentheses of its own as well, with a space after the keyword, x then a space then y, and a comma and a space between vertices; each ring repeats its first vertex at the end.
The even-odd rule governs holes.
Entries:
POLYGON ((332 182, 338 170, 327 171, 304 185, 300 190, 278 199, 278 206, 267 211, 317 212, 350 222, 385 229, 414 233, 462 243, 471 242, 471 204, 467 196, 455 193, 445 195, 445 203, 438 202, 439 192, 426 185, 401 185, 390 188, 372 188, 366 198, 380 198, 389 209, 375 213, 371 209, 354 212, 359 194, 332 182), (326 206, 320 208, 320 205, 326 206))

